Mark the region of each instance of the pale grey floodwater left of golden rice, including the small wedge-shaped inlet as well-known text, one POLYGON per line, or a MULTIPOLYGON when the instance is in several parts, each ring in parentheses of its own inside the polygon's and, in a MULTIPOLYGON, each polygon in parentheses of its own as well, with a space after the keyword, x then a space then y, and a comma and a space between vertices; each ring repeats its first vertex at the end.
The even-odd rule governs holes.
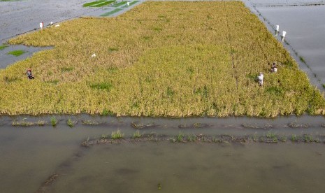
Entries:
MULTIPOLYGON (((83 7, 86 2, 82 0, 72 1, 0 1, 0 45, 6 43, 9 38, 39 30, 39 23, 43 22, 44 27, 48 27, 50 22, 62 22, 75 17, 95 16, 99 17, 108 14, 107 17, 115 17, 127 10, 137 6, 143 1, 130 1, 130 6, 104 6, 101 8, 83 7), (118 11, 116 11, 118 10, 118 11)), ((24 45, 10 45, 0 50, 0 69, 13 64, 27 57, 31 57, 35 52, 48 48, 27 47, 24 45), (13 50, 23 50, 25 53, 19 57, 8 55, 13 50)))

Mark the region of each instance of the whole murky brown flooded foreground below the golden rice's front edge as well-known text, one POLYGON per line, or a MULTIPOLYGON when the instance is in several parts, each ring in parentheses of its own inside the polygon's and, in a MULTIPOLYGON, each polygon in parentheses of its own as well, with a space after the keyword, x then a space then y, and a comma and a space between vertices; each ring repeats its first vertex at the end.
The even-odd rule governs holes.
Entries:
POLYGON ((55 127, 49 119, 1 117, 3 192, 322 192, 325 188, 325 120, 321 116, 167 119, 82 115, 57 117, 55 127), (69 118, 73 127, 68 127, 69 118), (18 124, 40 121, 44 124, 18 124), (103 138, 103 134, 110 138, 117 129, 124 140, 82 146, 82 141, 103 138), (136 131, 161 134, 166 140, 131 140, 136 131), (252 139, 171 140, 180 134, 252 139), (260 141, 269 134, 279 141, 260 141), (304 134, 318 141, 291 139, 304 134), (286 136, 286 141, 280 136, 286 136))

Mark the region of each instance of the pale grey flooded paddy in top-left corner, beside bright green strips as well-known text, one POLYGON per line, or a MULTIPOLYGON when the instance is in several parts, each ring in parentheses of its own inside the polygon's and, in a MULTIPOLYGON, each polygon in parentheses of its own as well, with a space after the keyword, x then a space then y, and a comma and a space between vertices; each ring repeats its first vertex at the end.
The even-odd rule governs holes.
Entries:
POLYGON ((38 29, 39 23, 61 22, 92 11, 83 8, 84 0, 0 1, 0 43, 8 38, 38 29))

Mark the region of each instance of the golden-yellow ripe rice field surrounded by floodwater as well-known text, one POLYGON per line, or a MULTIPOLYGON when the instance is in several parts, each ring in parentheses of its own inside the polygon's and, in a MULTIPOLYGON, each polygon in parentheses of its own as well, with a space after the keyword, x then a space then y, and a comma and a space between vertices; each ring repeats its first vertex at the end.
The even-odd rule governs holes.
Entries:
POLYGON ((319 90, 238 1, 145 2, 116 18, 80 18, 10 43, 55 49, 0 71, 0 113, 325 113, 319 90), (277 73, 269 73, 273 61, 277 73), (27 68, 34 80, 22 74, 27 68), (263 87, 254 80, 260 71, 263 87))

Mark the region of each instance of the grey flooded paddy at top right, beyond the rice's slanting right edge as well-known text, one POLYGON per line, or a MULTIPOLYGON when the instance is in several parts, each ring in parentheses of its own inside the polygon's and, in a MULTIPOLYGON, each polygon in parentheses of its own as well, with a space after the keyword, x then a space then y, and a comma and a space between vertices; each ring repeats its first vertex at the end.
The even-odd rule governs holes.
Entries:
MULTIPOLYGON (((313 85, 324 90, 325 84, 325 1, 289 0, 289 1, 245 1, 251 9, 257 10, 261 21, 270 25, 274 33, 275 26, 287 31, 285 40, 287 48, 300 64, 313 85)), ((279 37, 280 39, 280 37, 279 37)))

